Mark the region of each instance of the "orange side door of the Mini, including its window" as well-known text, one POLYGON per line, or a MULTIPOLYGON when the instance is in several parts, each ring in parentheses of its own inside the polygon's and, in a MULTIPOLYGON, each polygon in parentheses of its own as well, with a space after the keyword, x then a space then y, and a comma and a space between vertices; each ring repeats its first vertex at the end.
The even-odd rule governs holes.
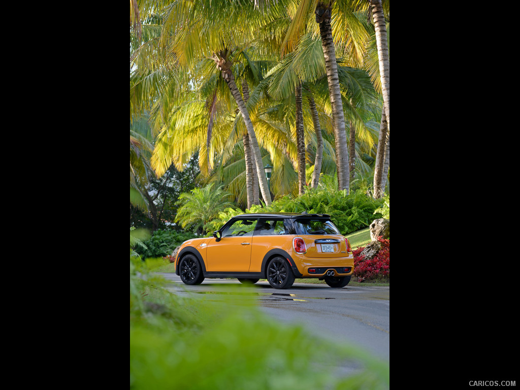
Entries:
POLYGON ((207 271, 248 272, 256 218, 237 219, 224 228, 220 240, 207 245, 207 271))

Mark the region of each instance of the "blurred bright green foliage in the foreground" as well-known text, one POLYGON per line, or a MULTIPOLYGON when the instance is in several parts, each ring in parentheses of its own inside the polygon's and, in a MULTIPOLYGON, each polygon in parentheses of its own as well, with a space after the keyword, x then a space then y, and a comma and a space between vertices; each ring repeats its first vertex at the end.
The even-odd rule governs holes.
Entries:
POLYGON ((131 389, 389 388, 387 362, 274 322, 246 287, 233 301, 179 297, 132 262, 130 287, 131 389), (346 361, 358 368, 342 375, 346 361))

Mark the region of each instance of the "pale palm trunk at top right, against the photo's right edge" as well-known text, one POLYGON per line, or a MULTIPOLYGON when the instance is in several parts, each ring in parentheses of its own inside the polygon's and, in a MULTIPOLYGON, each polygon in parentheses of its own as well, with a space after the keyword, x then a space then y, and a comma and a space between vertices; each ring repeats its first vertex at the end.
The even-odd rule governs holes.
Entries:
POLYGON ((381 0, 368 0, 372 8, 372 18, 375 28, 375 40, 378 45, 379 75, 385 106, 386 122, 390 131, 390 55, 386 37, 386 24, 381 0))

